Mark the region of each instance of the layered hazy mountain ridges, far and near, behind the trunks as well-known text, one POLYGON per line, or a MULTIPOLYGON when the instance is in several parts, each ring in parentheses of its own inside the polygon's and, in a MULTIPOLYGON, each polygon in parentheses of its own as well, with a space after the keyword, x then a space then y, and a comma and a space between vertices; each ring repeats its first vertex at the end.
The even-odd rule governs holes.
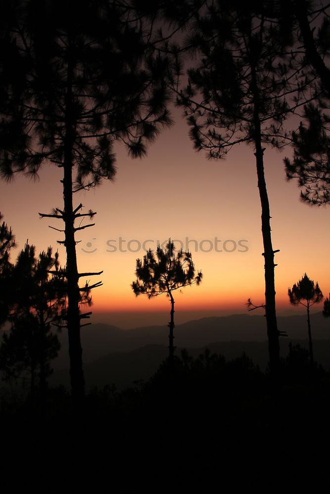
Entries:
MULTIPOLYGON (((330 324, 321 312, 311 316, 315 358, 325 368, 330 365, 330 324), (328 364, 329 361, 329 364, 328 364)), ((306 316, 279 316, 278 327, 288 337, 281 338, 285 356, 288 344, 308 348, 306 316)), ((205 317, 175 327, 176 355, 183 348, 197 357, 205 348, 234 359, 245 352, 263 370, 268 362, 265 317, 239 314, 205 317)), ((81 329, 84 373, 87 387, 114 383, 119 388, 152 376, 168 356, 168 327, 144 326, 120 329, 107 324, 92 324, 81 329)), ((67 335, 60 335, 61 350, 53 362, 52 384, 69 384, 67 335)))

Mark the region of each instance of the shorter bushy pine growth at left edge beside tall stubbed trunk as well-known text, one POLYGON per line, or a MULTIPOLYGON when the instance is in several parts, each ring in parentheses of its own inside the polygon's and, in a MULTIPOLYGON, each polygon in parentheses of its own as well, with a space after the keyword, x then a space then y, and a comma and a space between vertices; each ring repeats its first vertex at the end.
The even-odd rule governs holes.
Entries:
POLYGON ((66 282, 59 267, 58 253, 49 247, 35 257, 35 247, 26 244, 17 261, 6 273, 9 332, 3 333, 1 369, 10 378, 26 378, 30 373, 31 393, 37 387, 45 394, 49 362, 60 344, 51 325, 61 325, 66 314, 66 282))

